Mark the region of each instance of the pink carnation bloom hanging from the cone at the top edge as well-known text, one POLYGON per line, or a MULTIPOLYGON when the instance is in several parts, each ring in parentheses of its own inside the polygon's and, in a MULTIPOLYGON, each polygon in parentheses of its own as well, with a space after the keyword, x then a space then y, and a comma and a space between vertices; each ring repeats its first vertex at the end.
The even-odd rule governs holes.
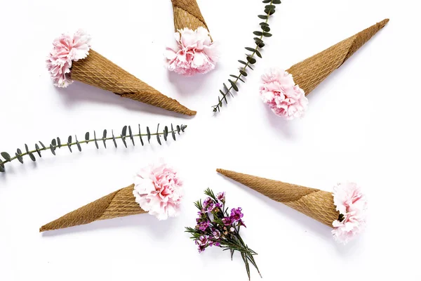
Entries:
POLYGON ((218 51, 206 28, 193 31, 186 27, 175 32, 174 36, 175 46, 167 47, 164 53, 168 70, 192 76, 215 68, 218 51))

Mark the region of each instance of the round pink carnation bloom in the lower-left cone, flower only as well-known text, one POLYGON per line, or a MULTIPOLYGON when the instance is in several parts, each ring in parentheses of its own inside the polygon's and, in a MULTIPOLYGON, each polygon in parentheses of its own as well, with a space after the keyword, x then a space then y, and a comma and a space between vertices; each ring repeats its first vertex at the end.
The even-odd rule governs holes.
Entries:
POLYGON ((152 164, 135 176, 133 190, 140 207, 160 221, 177 216, 183 198, 182 181, 166 164, 152 164))

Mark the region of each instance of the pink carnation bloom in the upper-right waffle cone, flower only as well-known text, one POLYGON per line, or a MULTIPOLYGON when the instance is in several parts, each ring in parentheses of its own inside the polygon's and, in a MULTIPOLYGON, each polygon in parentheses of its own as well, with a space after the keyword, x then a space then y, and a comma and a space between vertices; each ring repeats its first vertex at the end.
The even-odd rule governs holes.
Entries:
POLYGON ((279 68, 262 75, 260 96, 274 114, 287 120, 302 117, 309 103, 304 91, 295 85, 293 76, 279 68))

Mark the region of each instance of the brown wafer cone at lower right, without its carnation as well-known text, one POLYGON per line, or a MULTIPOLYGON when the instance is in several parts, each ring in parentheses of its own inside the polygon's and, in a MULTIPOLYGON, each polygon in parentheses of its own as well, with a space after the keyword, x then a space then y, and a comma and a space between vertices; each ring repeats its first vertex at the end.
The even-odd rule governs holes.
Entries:
POLYGON ((266 195, 272 200, 286 204, 302 214, 326 224, 326 226, 333 227, 333 221, 339 218, 339 212, 336 211, 335 204, 333 204, 331 192, 236 173, 235 171, 223 169, 217 169, 217 171, 228 178, 232 178, 234 181, 247 185, 249 188, 262 193, 262 195, 266 195))

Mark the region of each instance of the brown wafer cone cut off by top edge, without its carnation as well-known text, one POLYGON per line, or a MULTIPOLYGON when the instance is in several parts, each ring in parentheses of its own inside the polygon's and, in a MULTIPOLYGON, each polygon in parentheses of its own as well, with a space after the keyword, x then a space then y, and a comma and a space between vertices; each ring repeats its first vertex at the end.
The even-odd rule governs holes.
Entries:
POLYGON ((173 2, 175 32, 185 27, 190 30, 204 27, 209 31, 196 0, 171 0, 171 2, 173 2))

